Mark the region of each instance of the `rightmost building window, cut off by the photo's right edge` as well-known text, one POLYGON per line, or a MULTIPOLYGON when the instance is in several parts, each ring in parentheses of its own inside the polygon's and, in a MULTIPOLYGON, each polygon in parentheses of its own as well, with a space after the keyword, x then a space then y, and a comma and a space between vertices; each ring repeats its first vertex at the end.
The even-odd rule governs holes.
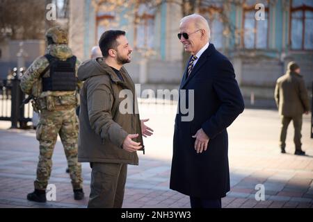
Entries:
POLYGON ((313 49, 313 1, 291 1, 289 40, 291 49, 313 49))

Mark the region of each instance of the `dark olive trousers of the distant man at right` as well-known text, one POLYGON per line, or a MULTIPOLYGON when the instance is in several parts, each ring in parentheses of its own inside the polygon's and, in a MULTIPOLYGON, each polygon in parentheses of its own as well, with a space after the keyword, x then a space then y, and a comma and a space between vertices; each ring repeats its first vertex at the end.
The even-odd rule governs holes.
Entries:
POLYGON ((284 117, 282 116, 282 125, 280 131, 280 148, 286 147, 286 136, 287 136, 287 128, 289 126, 290 121, 294 123, 294 144, 296 146, 296 150, 301 150, 301 128, 302 128, 302 115, 297 117, 284 117))

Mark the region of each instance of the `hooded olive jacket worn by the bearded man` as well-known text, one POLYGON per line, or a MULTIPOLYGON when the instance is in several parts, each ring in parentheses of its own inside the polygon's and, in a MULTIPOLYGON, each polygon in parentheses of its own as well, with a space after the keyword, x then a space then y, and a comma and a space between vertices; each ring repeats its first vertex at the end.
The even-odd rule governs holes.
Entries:
POLYGON ((135 86, 122 67, 120 80, 102 58, 79 67, 81 110, 79 113, 79 162, 138 164, 136 152, 122 148, 128 134, 143 146, 135 86))

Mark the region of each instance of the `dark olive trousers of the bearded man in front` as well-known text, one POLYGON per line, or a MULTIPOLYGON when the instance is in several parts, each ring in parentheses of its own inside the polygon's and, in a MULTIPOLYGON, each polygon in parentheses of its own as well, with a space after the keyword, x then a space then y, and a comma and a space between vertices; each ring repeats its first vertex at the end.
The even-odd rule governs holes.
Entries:
POLYGON ((94 162, 88 208, 121 208, 127 176, 127 164, 94 162))

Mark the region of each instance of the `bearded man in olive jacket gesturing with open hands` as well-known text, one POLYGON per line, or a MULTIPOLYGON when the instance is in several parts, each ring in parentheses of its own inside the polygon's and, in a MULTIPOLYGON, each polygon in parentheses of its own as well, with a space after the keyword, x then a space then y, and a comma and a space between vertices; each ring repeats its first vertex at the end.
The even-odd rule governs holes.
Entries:
POLYGON ((152 135, 139 119, 135 86, 123 64, 130 62, 124 31, 106 31, 99 40, 104 58, 79 67, 79 162, 90 162, 88 207, 122 207, 127 164, 138 165, 143 136, 152 135))

